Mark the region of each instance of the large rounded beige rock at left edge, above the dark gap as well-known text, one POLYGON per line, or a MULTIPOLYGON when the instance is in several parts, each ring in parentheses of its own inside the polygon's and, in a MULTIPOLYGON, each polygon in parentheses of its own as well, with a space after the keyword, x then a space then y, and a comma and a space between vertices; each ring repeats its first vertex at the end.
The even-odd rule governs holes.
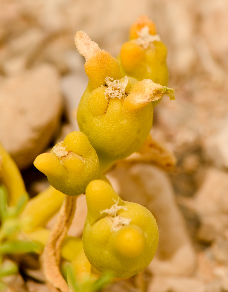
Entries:
POLYGON ((47 64, 0 86, 0 141, 23 169, 48 146, 62 109, 56 69, 47 64))

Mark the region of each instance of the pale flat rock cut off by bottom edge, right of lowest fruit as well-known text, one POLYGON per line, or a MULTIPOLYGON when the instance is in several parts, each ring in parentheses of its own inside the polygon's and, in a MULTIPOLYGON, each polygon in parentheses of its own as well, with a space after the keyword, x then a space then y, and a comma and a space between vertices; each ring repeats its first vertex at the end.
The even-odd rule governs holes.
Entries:
POLYGON ((192 277, 154 277, 147 292, 206 292, 206 285, 192 277))

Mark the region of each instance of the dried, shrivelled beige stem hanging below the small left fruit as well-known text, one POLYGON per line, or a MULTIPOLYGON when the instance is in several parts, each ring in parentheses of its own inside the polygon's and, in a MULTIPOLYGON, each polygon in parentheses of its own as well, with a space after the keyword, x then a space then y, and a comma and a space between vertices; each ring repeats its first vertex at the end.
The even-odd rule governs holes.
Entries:
POLYGON ((65 196, 57 223, 51 231, 43 251, 43 270, 46 279, 53 287, 62 292, 69 292, 69 287, 59 269, 60 249, 74 216, 76 198, 76 196, 65 196))

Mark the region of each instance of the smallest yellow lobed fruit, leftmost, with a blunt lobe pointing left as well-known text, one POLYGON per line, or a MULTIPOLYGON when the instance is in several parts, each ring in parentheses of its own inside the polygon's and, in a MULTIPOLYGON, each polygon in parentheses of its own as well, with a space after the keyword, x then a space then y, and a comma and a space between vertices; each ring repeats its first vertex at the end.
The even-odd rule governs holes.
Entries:
POLYGON ((50 153, 36 157, 34 166, 43 172, 49 183, 67 195, 85 192, 90 180, 98 178, 98 156, 85 134, 69 133, 50 153))

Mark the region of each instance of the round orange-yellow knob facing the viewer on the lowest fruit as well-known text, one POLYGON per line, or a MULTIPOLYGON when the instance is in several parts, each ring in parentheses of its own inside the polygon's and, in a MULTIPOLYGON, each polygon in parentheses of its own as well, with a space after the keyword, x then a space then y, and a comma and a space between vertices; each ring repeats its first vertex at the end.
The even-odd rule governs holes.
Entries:
POLYGON ((142 229, 136 225, 121 228, 114 238, 114 248, 121 256, 133 258, 139 256, 145 247, 142 229))

